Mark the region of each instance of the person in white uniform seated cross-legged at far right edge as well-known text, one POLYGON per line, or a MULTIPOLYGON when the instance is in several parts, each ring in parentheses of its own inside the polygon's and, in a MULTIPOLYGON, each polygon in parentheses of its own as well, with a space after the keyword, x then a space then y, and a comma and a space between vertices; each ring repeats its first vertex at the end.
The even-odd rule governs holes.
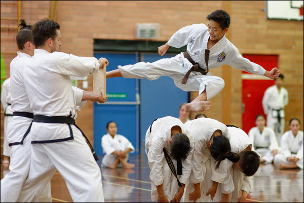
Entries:
POLYGON ((303 131, 299 130, 299 119, 292 118, 289 129, 282 136, 281 151, 275 156, 274 163, 280 169, 303 169, 303 131))

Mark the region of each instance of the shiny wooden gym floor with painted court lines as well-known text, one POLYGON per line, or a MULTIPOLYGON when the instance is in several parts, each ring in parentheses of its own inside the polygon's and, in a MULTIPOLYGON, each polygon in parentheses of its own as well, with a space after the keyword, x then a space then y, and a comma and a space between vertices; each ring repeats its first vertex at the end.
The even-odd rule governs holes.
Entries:
MULTIPOLYGON (((101 156, 97 161, 101 164, 101 156)), ((150 169, 146 155, 130 155, 134 170, 102 168, 102 185, 106 202, 147 202, 150 199, 150 169)), ((1 179, 8 173, 1 165, 1 179)), ((72 202, 65 182, 56 172, 51 180, 53 202, 72 202)), ((253 176, 247 202, 303 202, 303 170, 278 170, 261 165, 253 176)))

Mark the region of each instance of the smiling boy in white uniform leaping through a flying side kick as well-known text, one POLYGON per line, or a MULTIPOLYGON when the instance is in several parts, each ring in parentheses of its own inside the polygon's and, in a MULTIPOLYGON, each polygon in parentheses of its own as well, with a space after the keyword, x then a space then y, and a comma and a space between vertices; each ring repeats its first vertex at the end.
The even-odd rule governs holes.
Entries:
POLYGON ((243 58, 239 50, 225 38, 230 26, 230 16, 223 10, 216 10, 207 16, 208 26, 193 24, 179 29, 170 40, 158 48, 163 56, 170 46, 187 50, 172 58, 164 58, 153 63, 138 62, 134 65, 118 66, 107 72, 107 78, 146 78, 156 80, 169 76, 183 91, 199 91, 199 95, 186 105, 189 111, 204 112, 210 108, 210 100, 224 87, 224 81, 208 74, 209 70, 228 64, 242 71, 277 78, 280 71, 275 67, 270 72, 262 66, 243 58))

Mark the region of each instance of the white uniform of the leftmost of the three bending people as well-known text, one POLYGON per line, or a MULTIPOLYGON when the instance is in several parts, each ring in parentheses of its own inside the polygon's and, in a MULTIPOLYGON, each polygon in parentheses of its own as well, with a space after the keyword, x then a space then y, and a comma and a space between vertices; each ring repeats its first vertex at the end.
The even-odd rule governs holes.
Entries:
MULTIPOLYGON (((170 156, 169 139, 171 138, 171 128, 175 125, 181 127, 181 133, 184 133, 189 138, 190 146, 192 148, 187 158, 182 161, 182 175, 177 176, 180 183, 186 184, 191 173, 191 159, 194 149, 193 136, 188 132, 187 128, 178 118, 166 116, 154 121, 151 127, 151 132, 149 126, 145 136, 146 154, 148 156, 148 163, 151 170, 150 179, 152 201, 158 199, 156 186, 163 184, 164 194, 169 201, 173 199, 179 189, 177 180, 172 174, 163 152, 163 149, 165 148, 170 156)), ((176 160, 172 157, 171 160, 177 172, 176 160)))

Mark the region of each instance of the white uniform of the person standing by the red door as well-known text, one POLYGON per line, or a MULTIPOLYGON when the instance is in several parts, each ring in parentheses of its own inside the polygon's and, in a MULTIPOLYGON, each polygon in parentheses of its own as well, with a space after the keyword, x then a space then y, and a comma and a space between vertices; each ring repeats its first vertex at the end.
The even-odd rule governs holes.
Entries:
POLYGON ((284 87, 278 91, 277 85, 273 85, 265 90, 262 99, 264 113, 267 114, 267 127, 276 132, 277 142, 280 145, 285 127, 284 108, 288 104, 288 92, 284 87), (278 120, 280 116, 280 124, 278 120))

